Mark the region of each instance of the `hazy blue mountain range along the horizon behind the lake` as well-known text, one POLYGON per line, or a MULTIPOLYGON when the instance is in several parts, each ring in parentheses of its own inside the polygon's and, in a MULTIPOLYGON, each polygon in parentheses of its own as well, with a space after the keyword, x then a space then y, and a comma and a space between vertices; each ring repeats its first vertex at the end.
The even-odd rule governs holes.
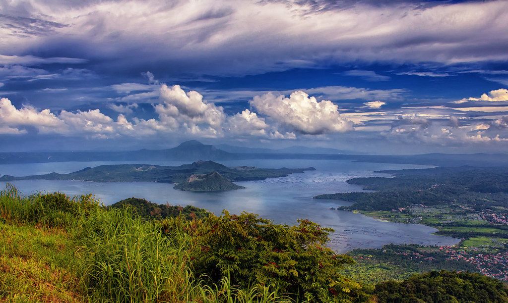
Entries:
POLYGON ((305 159, 349 160, 374 163, 419 164, 434 166, 508 166, 506 154, 424 154, 409 156, 350 155, 347 151, 309 146, 292 146, 282 149, 240 147, 227 144, 203 144, 190 140, 160 150, 141 149, 131 152, 35 152, 0 153, 0 164, 46 163, 67 161, 197 161, 197 160, 248 160, 248 159, 305 159))

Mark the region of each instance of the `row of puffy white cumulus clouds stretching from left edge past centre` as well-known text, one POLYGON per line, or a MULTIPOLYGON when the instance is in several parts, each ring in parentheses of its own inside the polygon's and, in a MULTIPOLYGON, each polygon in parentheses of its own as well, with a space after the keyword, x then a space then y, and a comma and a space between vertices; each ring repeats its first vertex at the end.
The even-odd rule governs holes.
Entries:
POLYGON ((296 133, 319 135, 353 129, 353 123, 339 114, 336 104, 326 100, 318 102, 302 91, 293 92, 289 98, 272 93, 256 96, 251 104, 258 112, 245 109, 232 116, 228 116, 223 107, 207 102, 197 91, 185 91, 178 85, 162 84, 157 94, 159 103, 153 104, 157 118, 148 120, 138 117, 128 120, 124 116, 133 113, 138 107, 136 103, 109 103, 108 108, 120 113, 115 120, 99 109, 58 113, 30 105, 16 108, 9 99, 2 98, 0 127, 3 133, 11 134, 37 130, 42 134, 99 139, 165 134, 295 139, 296 133), (267 117, 260 117, 259 113, 267 117))

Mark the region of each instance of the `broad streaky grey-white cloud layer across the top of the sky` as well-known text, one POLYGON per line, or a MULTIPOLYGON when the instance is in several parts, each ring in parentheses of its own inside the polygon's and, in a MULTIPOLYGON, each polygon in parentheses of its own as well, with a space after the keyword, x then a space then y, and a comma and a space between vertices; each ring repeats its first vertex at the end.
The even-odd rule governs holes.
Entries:
POLYGON ((0 10, 18 25, 0 26, 0 37, 6 54, 35 54, 42 49, 53 56, 5 58, 9 64, 83 60, 58 57, 68 54, 101 62, 111 73, 138 72, 150 64, 167 66, 172 75, 181 71, 211 75, 358 61, 448 64, 508 59, 508 7, 503 0, 310 3, 204 0, 196 5, 176 0, 167 5, 130 0, 47 5, 34 0, 14 6, 8 2, 0 10), (42 22, 41 16, 55 24, 42 22))

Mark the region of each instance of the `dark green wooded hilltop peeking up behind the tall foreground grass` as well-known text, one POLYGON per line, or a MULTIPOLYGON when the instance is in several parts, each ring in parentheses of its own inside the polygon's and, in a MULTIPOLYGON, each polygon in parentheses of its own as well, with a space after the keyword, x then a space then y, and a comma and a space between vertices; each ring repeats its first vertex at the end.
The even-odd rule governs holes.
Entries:
POLYGON ((169 204, 155 204, 145 199, 134 197, 118 201, 115 204, 108 206, 108 208, 124 207, 132 207, 133 210, 141 217, 155 219, 166 219, 176 217, 178 215, 183 215, 187 219, 199 219, 207 217, 209 214, 209 212, 205 209, 192 205, 182 207, 169 204))

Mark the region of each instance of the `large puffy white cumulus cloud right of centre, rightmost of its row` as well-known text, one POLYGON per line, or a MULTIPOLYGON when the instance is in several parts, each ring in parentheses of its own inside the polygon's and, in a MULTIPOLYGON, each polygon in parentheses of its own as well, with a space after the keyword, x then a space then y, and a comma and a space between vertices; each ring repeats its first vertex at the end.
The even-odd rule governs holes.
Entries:
POLYGON ((353 123, 340 116, 338 106, 331 101, 317 102, 303 91, 284 95, 267 93, 255 96, 250 105, 283 125, 303 134, 323 134, 353 130, 353 123))

